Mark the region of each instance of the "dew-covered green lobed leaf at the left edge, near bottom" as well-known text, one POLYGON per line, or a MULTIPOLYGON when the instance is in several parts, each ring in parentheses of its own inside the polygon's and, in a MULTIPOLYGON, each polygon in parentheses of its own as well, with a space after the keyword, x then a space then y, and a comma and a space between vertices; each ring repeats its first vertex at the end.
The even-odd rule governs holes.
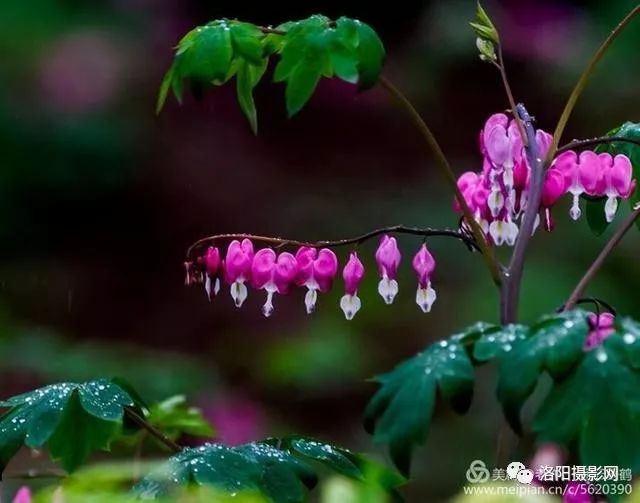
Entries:
POLYGON ((46 386, 2 401, 0 407, 10 408, 0 418, 3 469, 23 443, 30 448, 48 443, 51 457, 69 472, 90 452, 108 448, 122 431, 125 407, 139 409, 107 379, 46 386))

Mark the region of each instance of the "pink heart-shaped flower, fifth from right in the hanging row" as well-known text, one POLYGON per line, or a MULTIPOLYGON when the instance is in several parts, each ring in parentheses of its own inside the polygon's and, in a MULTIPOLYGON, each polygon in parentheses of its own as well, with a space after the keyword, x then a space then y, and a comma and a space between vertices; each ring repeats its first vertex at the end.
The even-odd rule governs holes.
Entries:
POLYGON ((254 288, 266 290, 267 300, 262 314, 273 314, 273 294, 287 294, 298 274, 296 258, 289 252, 276 256, 271 248, 258 250, 251 264, 251 282, 254 288))

